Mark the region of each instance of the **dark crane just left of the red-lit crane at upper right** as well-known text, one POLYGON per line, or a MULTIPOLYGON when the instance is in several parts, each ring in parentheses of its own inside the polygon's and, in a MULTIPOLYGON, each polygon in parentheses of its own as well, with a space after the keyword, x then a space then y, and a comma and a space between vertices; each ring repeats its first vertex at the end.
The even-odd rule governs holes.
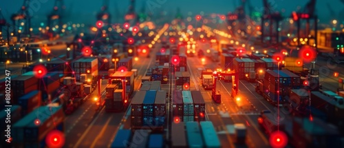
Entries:
POLYGON ((272 7, 271 4, 268 2, 268 0, 263 0, 263 6, 264 6, 264 14, 261 17, 261 43, 264 43, 265 39, 265 23, 266 21, 270 21, 269 24, 269 36, 270 36, 270 44, 272 44, 272 28, 274 26, 274 23, 276 24, 276 33, 275 33, 275 39, 277 45, 279 45, 279 21, 283 19, 281 14, 279 12, 271 12, 272 7))

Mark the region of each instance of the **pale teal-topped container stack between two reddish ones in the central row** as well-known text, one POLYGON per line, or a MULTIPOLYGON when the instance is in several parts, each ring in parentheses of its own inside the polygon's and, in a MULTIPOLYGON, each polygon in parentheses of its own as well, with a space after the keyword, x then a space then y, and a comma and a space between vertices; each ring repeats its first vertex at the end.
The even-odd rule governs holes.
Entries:
POLYGON ((193 98, 190 91, 182 91, 183 96, 183 121, 193 121, 194 120, 194 106, 193 106, 193 98))

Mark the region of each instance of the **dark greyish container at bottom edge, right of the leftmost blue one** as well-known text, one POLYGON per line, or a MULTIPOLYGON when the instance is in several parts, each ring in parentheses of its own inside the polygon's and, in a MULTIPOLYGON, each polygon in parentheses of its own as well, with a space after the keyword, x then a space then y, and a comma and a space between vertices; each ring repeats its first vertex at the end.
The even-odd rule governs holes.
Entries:
POLYGON ((149 134, 151 133, 150 130, 147 129, 137 129, 133 133, 133 138, 129 145, 130 148, 134 147, 147 147, 149 142, 149 134))

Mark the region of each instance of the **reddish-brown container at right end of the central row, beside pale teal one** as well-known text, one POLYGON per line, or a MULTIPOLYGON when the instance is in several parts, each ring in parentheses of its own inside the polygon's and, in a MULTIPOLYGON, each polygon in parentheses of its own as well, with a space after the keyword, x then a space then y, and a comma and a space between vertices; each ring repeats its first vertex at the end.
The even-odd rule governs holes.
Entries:
POLYGON ((200 91, 191 91, 191 95, 193 98, 193 105, 195 107, 194 109, 194 115, 195 115, 195 121, 204 121, 206 120, 206 104, 204 102, 204 98, 202 96, 202 93, 200 91))

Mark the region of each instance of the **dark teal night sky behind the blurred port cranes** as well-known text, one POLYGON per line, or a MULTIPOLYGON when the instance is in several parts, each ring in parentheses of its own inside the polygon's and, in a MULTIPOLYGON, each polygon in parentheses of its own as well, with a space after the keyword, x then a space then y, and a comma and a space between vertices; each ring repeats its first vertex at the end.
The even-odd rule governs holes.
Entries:
MULTIPOLYGON (((54 0, 31 0, 36 1, 34 6, 36 9, 32 9, 34 12, 34 19, 37 21, 45 21, 46 15, 52 11, 54 6, 54 0)), ((255 10, 262 10, 262 0, 246 0, 252 1, 252 6, 255 10)), ((272 3, 272 8, 275 10, 281 10, 284 8, 286 14, 290 14, 293 10, 297 10, 297 6, 305 6, 309 0, 268 0, 272 3)), ((339 12, 344 12, 344 3, 341 0, 318 0, 316 2, 316 13, 319 14, 319 18, 322 22, 329 22, 332 19, 327 8, 327 1, 330 1, 332 10, 338 15, 339 12)), ((100 10, 103 5, 102 0, 65 0, 65 6, 67 12, 68 21, 76 23, 92 23, 96 20, 95 14, 100 10)), ((109 0, 109 11, 113 13, 112 19, 115 19, 115 3, 118 4, 118 10, 121 14, 127 12, 129 6, 129 0, 109 0)), ((206 14, 215 12, 219 14, 226 14, 227 12, 235 9, 235 3, 239 6, 239 0, 136 0, 136 10, 139 11, 144 4, 147 11, 151 10, 153 14, 158 14, 160 10, 167 12, 173 12, 175 15, 176 9, 179 7, 184 16, 188 12, 193 12, 193 15, 200 14, 203 11, 206 14), (159 4, 158 1, 163 3, 159 4), (148 2, 155 3, 158 7, 156 9, 149 9, 148 2)), ((2 9, 3 15, 9 20, 10 14, 18 12, 22 6, 23 0, 1 0, 0 8, 2 9)), ((122 16, 121 16, 122 17, 122 16)), ((339 19, 339 18, 338 18, 339 19)))

